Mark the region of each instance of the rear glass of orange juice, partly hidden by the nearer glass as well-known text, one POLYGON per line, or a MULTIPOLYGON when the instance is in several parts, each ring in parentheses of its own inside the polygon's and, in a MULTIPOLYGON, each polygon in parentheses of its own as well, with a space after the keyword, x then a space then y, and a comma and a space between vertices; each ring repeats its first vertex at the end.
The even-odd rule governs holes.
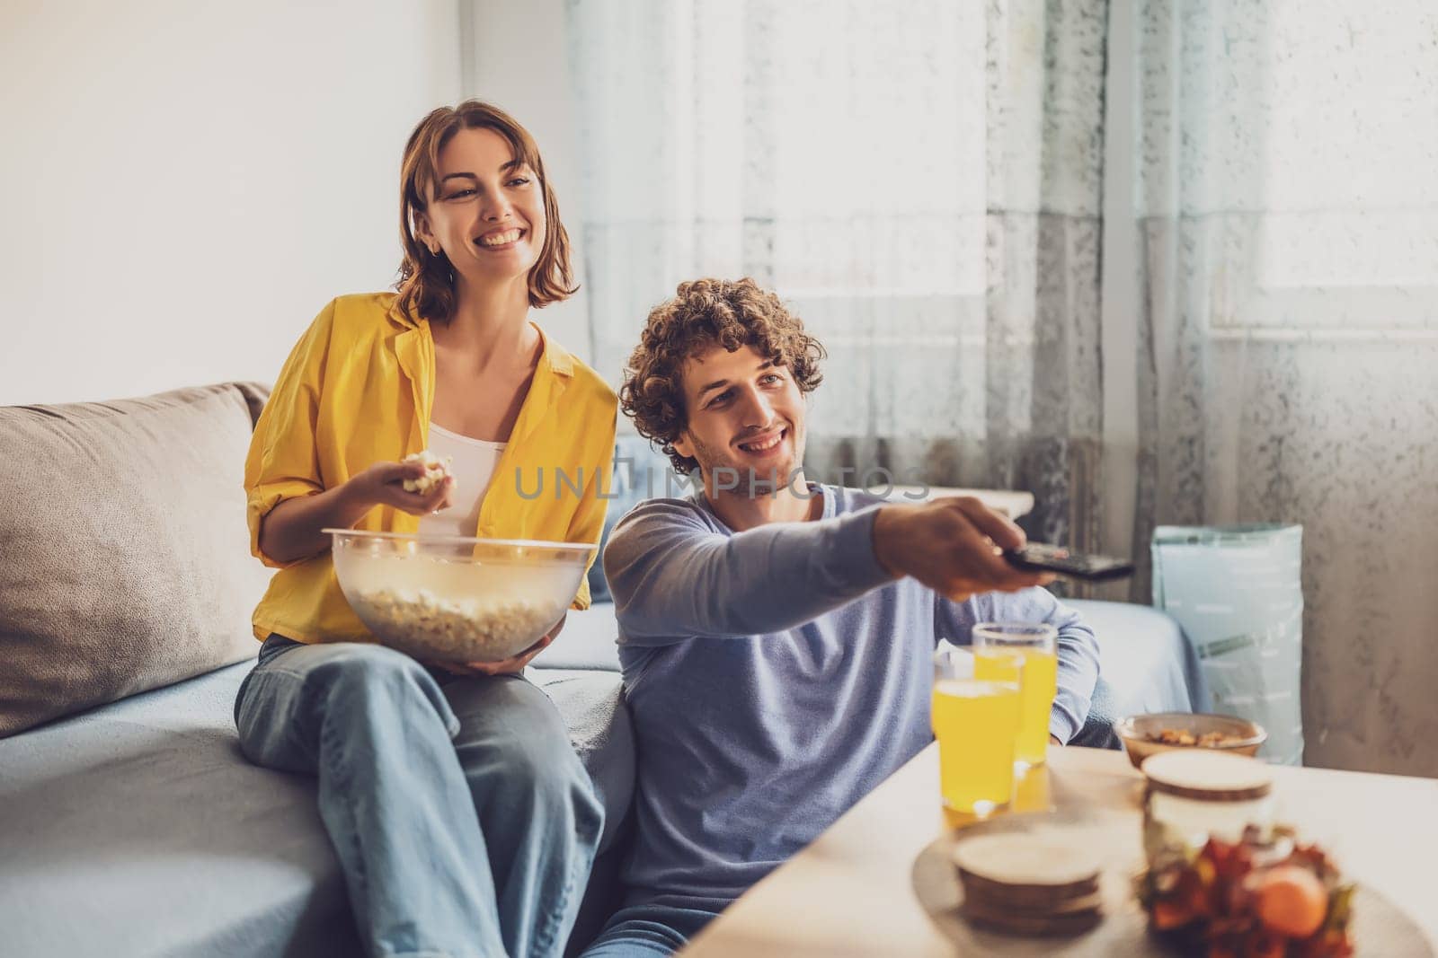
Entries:
POLYGON ((1024 659, 1015 760, 1041 766, 1048 758, 1048 714, 1058 692, 1058 631, 1043 622, 981 622, 974 626, 974 676, 1004 679, 1024 659))

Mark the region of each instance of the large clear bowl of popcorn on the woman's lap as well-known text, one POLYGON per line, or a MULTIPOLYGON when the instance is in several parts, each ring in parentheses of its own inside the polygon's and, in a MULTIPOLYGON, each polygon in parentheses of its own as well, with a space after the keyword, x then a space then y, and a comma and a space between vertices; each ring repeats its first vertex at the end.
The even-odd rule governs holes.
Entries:
POLYGON ((594 546, 326 529, 360 620, 424 662, 499 662, 559 622, 594 546))

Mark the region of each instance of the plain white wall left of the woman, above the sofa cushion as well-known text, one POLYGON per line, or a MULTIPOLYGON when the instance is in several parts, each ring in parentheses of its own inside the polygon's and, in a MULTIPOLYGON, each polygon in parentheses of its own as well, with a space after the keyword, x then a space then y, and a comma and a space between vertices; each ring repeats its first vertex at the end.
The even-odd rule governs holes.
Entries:
POLYGON ((388 287, 459 1, 0 6, 0 404, 272 381, 388 287))

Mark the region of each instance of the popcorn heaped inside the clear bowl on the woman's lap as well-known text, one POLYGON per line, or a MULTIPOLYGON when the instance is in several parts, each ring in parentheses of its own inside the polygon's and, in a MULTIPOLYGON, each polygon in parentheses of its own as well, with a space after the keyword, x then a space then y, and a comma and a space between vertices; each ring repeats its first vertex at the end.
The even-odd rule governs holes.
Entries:
POLYGON ((355 613, 387 645, 418 659, 498 662, 532 645, 564 615, 564 602, 523 597, 452 600, 429 589, 374 589, 355 613))

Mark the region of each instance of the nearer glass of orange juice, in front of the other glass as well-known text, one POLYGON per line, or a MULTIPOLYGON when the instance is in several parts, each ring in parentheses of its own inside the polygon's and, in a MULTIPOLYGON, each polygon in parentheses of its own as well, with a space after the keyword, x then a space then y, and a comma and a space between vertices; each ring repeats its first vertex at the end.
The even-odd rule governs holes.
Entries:
POLYGON ((985 817, 1014 797, 1014 748, 1025 662, 1011 658, 1001 678, 979 679, 968 649, 940 642, 933 654, 933 737, 939 740, 943 807, 985 817))

